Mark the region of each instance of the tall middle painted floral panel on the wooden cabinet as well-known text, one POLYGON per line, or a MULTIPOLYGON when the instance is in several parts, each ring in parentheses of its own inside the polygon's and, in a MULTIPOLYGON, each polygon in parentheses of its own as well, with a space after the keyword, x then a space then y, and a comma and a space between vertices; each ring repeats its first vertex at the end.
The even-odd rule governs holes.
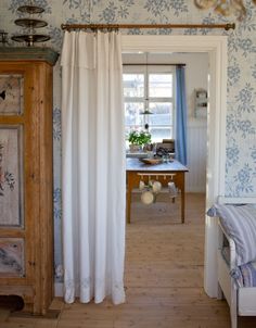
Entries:
POLYGON ((0 126, 0 226, 23 226, 22 127, 0 126))

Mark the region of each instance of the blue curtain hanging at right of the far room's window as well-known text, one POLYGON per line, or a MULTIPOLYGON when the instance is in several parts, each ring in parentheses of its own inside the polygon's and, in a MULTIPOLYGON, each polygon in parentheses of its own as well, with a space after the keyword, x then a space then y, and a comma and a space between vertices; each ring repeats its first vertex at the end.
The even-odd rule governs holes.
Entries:
POLYGON ((176 159, 187 165, 187 101, 184 67, 176 66, 176 159))

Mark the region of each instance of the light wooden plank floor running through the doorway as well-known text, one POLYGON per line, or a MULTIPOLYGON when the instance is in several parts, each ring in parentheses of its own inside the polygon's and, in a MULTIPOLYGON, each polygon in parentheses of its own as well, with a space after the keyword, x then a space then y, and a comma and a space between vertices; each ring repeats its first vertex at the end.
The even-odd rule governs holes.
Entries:
MULTIPOLYGON (((133 195, 127 227, 127 302, 64 304, 54 299, 57 318, 10 315, 0 310, 1 328, 228 328, 226 301, 209 299, 203 290, 204 195, 187 194, 185 224, 180 224, 179 201, 167 194, 145 206, 133 195)), ((239 328, 256 327, 255 318, 240 318, 239 328)))

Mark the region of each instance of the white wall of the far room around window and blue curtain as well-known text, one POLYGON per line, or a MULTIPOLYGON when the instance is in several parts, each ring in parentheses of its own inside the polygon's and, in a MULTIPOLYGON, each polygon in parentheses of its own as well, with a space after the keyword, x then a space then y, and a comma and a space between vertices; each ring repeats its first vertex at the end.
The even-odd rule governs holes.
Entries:
MULTIPOLYGON (((145 54, 123 54, 124 63, 145 63, 145 54)), ((194 89, 207 90, 207 53, 151 53, 148 63, 185 64, 188 103, 188 168, 185 188, 188 192, 205 192, 206 189, 206 134, 207 122, 195 117, 194 89)))

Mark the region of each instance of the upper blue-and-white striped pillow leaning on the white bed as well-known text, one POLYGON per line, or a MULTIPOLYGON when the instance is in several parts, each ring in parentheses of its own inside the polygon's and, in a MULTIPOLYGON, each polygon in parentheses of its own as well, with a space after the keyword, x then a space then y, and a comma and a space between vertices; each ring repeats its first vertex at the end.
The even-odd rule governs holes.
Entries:
POLYGON ((256 209, 253 205, 215 204, 208 216, 218 216, 236 249, 236 265, 256 260, 256 209))

